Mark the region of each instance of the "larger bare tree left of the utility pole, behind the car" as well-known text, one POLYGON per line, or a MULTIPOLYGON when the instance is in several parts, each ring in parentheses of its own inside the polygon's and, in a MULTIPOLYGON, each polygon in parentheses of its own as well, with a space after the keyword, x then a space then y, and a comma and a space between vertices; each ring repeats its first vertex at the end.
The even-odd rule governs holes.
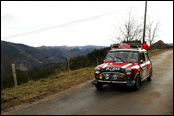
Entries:
POLYGON ((118 28, 120 35, 116 36, 116 40, 119 42, 131 42, 133 40, 141 40, 142 38, 142 24, 138 24, 138 20, 135 20, 131 11, 128 13, 128 18, 124 21, 124 26, 118 28))

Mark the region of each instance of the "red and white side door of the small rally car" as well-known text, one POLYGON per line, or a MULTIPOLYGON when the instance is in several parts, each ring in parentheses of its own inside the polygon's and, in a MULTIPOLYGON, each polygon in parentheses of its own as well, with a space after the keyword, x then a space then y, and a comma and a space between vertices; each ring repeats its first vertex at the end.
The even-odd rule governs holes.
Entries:
POLYGON ((146 71, 146 59, 143 52, 140 52, 140 76, 141 80, 146 78, 147 71, 146 71))

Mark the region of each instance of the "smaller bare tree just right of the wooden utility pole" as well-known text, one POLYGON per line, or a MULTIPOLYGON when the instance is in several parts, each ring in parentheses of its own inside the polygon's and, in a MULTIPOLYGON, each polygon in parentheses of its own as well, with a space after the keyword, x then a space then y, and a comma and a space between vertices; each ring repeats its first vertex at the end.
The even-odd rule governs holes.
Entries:
POLYGON ((149 20, 146 26, 146 37, 150 46, 155 42, 156 37, 159 36, 158 35, 159 25, 160 25, 159 21, 157 21, 157 23, 154 23, 153 20, 152 21, 149 20))

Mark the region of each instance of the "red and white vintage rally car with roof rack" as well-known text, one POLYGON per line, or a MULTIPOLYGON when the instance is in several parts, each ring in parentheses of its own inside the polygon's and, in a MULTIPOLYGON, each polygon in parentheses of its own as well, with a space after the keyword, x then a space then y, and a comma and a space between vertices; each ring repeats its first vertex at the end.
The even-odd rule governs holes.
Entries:
POLYGON ((104 63, 95 68, 92 84, 97 89, 102 89, 103 84, 121 84, 138 90, 143 80, 151 81, 152 62, 146 50, 125 43, 115 46, 108 51, 104 63))

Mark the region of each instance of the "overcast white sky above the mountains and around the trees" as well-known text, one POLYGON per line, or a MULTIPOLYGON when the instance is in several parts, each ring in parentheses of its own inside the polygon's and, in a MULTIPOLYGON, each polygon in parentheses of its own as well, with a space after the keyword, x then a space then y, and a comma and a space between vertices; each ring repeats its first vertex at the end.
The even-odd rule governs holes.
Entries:
MULTIPOLYGON (((28 46, 110 46, 132 12, 144 22, 145 1, 1 1, 1 40, 28 46)), ((148 1, 160 21, 156 41, 173 43, 173 1, 148 1)))

